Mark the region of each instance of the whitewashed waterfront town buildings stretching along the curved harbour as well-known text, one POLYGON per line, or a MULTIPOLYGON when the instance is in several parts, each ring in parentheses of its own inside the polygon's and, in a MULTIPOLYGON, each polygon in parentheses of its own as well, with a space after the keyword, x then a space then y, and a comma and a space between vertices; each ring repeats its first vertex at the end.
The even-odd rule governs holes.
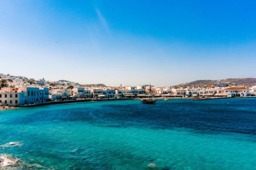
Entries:
MULTIPOLYGON (((0 80, 6 80, 8 86, 0 89, 0 106, 22 106, 35 103, 103 98, 155 98, 167 97, 248 97, 255 96, 256 86, 232 87, 150 87, 149 86, 118 86, 118 87, 83 87, 78 83, 59 80, 46 81, 44 78, 35 80, 23 76, 0 74, 0 80)), ((1 84, 0 84, 1 85, 1 84)))

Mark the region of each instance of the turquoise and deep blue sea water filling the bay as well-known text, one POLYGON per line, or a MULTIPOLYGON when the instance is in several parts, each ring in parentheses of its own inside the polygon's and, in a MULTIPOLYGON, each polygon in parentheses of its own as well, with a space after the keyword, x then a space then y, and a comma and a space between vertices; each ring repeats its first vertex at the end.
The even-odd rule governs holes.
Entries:
POLYGON ((256 98, 170 100, 0 111, 0 169, 256 169, 256 98))

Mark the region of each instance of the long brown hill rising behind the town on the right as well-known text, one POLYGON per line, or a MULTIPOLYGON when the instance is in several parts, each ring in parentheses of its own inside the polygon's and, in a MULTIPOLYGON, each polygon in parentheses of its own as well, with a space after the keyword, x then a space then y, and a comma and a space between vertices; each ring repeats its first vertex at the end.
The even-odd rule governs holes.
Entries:
POLYGON ((226 86, 255 86, 256 78, 228 78, 223 80, 196 80, 189 83, 183 83, 176 85, 174 87, 187 87, 194 86, 197 87, 226 87, 226 86))

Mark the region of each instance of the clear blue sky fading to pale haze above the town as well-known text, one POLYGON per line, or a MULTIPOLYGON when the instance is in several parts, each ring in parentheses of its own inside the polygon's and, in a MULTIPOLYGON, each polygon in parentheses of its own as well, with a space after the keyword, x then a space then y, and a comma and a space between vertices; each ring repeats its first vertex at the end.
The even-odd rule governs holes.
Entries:
POLYGON ((256 1, 0 0, 0 73, 109 86, 256 78, 256 1))

